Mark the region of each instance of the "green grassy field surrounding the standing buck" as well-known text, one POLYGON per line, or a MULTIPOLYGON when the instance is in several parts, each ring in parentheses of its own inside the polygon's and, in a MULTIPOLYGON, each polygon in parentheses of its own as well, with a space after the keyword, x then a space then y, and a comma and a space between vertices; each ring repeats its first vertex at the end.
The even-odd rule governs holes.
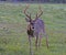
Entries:
MULTIPOLYGON (((28 11, 32 12, 32 18, 37 7, 30 6, 28 11)), ((0 55, 30 55, 24 8, 23 3, 0 3, 0 55)), ((42 4, 42 8, 50 48, 43 37, 36 51, 33 38, 34 55, 66 55, 66 4, 42 4)))

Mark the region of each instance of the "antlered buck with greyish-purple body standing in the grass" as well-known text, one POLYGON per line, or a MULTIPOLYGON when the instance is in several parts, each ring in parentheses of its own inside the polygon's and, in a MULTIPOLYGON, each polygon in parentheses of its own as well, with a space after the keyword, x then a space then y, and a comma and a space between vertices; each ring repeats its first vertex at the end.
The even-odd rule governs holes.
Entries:
POLYGON ((43 33, 46 36, 46 46, 48 48, 48 40, 47 40, 47 35, 45 33, 44 21, 40 18, 43 14, 41 6, 38 7, 40 13, 38 14, 36 13, 34 20, 32 20, 31 13, 30 14, 26 13, 28 9, 29 9, 29 6, 26 6, 26 8, 24 9, 24 14, 26 15, 26 18, 25 18, 26 22, 29 22, 26 30, 28 30, 30 45, 31 45, 31 37, 35 37, 35 46, 37 48, 37 46, 41 45, 41 40, 42 40, 41 34, 43 33))

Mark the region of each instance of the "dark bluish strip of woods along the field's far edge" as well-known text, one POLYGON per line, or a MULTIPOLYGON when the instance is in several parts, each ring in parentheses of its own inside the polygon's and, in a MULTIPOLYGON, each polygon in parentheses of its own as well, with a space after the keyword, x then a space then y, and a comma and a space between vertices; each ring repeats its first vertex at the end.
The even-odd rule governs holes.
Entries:
POLYGON ((41 3, 66 3, 66 0, 0 0, 9 2, 41 2, 41 3))

